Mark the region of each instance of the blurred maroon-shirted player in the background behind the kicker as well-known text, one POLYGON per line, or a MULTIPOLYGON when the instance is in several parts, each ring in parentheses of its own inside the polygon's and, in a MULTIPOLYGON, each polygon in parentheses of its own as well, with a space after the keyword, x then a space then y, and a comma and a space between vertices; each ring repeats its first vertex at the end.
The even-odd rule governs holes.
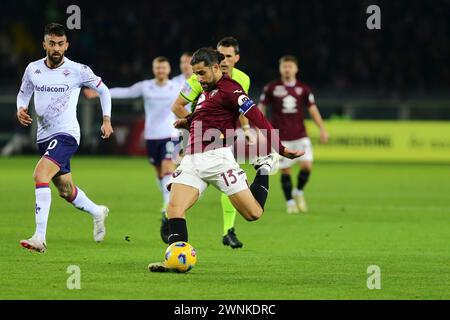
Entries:
POLYGON ((314 101, 310 88, 297 80, 298 62, 293 56, 280 58, 281 79, 270 82, 261 94, 259 109, 265 113, 271 107, 271 123, 280 129, 280 139, 288 148, 305 151, 305 155, 297 159, 280 160, 281 186, 287 201, 287 212, 298 213, 308 211, 303 188, 308 181, 312 169, 313 151, 311 140, 305 128, 305 111, 308 109, 311 118, 320 129, 320 141, 328 142, 328 133, 323 125, 319 109, 314 101), (297 177, 297 188, 293 189, 291 166, 300 163, 297 177))

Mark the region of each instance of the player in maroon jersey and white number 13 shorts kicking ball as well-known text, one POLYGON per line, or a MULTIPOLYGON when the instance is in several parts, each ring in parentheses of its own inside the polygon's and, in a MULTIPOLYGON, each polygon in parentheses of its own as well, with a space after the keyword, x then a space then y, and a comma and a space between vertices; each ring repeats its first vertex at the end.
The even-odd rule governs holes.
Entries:
MULTIPOLYGON (((224 58, 223 54, 210 48, 199 49, 192 56, 192 69, 203 92, 194 113, 175 122, 177 128, 189 128, 190 135, 186 155, 167 183, 170 189, 167 206, 169 244, 187 242, 186 211, 209 184, 225 193, 246 220, 261 217, 269 191, 269 173, 274 169, 278 155, 271 153, 253 162, 256 176, 249 187, 246 174, 236 162, 230 146, 234 142, 232 136, 239 115, 245 115, 257 128, 267 130, 267 140, 277 143, 272 147, 282 156, 293 159, 304 154, 285 148, 276 130, 241 85, 222 74, 220 62, 224 58)), ((153 272, 169 271, 161 262, 151 263, 148 267, 153 272)))

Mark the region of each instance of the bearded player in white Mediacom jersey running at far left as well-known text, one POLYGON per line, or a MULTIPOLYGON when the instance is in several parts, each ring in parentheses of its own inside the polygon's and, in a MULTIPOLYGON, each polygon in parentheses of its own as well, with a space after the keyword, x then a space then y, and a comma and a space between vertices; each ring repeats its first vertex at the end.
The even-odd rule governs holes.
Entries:
POLYGON ((41 159, 33 174, 36 184, 36 232, 20 244, 38 252, 45 252, 47 248, 45 238, 51 204, 50 180, 61 197, 92 215, 95 241, 103 241, 106 233, 105 219, 109 210, 92 202, 83 190, 74 185, 70 158, 80 143, 77 103, 81 87, 93 88, 100 95, 104 139, 113 132, 111 97, 101 78, 88 66, 64 56, 68 46, 64 27, 56 23, 48 24, 43 42, 47 55, 27 66, 17 95, 17 118, 22 125, 28 126, 33 121, 28 115, 28 104, 33 93, 37 114, 37 143, 41 159))

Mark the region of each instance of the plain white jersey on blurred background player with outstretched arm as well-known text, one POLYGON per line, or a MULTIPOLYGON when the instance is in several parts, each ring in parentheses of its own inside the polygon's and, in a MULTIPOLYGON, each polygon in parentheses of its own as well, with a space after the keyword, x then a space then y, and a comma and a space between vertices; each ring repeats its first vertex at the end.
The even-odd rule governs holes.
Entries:
POLYGON ((144 80, 128 88, 112 88, 109 92, 111 98, 144 99, 146 140, 178 137, 178 130, 173 126, 176 117, 172 112, 172 104, 180 88, 172 80, 163 86, 158 85, 155 79, 144 80))

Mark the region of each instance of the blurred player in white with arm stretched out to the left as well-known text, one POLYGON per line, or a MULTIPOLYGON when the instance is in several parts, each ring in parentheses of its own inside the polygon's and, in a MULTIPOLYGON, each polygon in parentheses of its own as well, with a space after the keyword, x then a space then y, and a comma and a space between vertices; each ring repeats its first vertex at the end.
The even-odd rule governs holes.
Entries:
MULTIPOLYGON (((163 194, 161 237, 163 240, 168 237, 168 224, 166 216, 166 206, 169 203, 169 191, 165 185, 175 171, 175 164, 172 161, 175 154, 175 144, 178 142, 178 130, 173 126, 176 120, 172 113, 171 106, 176 100, 180 87, 177 83, 169 80, 170 63, 166 57, 156 57, 152 63, 152 80, 144 80, 135 83, 131 87, 111 88, 113 99, 144 99, 145 109, 145 140, 147 154, 150 163, 156 169, 158 185, 163 194)), ((84 91, 86 97, 94 98, 97 94, 92 90, 84 91)))

